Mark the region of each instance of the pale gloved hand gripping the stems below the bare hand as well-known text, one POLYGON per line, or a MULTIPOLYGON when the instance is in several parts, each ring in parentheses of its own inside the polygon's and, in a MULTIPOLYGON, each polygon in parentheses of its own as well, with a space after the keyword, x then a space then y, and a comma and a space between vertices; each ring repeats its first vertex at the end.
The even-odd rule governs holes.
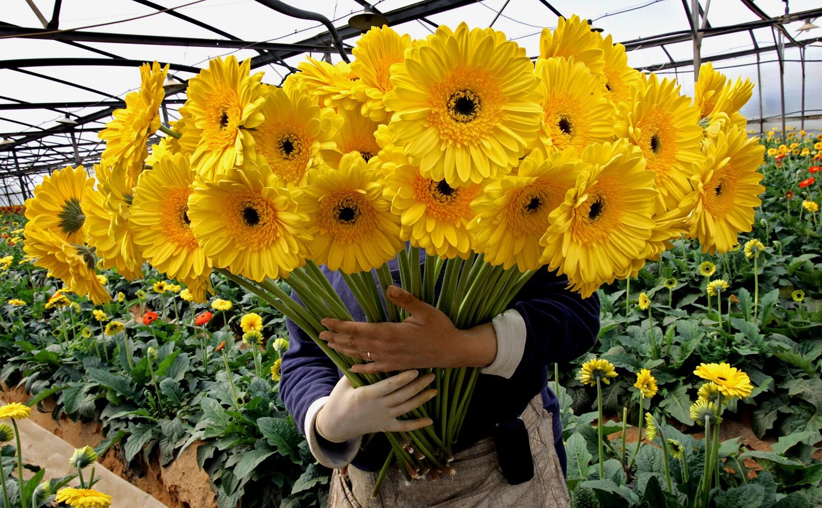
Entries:
POLYGON ((409 432, 432 425, 431 418, 398 420, 397 417, 436 395, 433 388, 423 391, 433 380, 433 374, 419 376, 418 371, 411 370, 370 386, 354 388, 343 376, 316 415, 316 432, 328 441, 341 443, 371 432, 409 432))

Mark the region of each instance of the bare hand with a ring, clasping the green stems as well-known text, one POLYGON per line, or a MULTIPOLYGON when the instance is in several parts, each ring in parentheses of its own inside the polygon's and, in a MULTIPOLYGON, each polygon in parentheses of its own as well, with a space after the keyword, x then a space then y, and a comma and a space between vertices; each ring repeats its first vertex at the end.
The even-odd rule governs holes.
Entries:
POLYGON ((327 340, 330 348, 370 361, 354 365, 351 372, 485 367, 496 358, 496 333, 491 324, 459 330, 443 312, 408 291, 390 286, 386 293, 391 302, 411 316, 401 323, 322 320, 330 331, 322 332, 320 338, 327 340))

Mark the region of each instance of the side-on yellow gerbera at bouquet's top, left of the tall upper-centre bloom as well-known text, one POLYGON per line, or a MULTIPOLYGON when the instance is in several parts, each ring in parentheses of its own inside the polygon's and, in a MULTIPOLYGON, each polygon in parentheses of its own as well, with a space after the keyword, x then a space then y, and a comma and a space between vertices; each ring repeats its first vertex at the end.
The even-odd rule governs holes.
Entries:
POLYGON ((362 103, 354 98, 359 77, 352 72, 351 64, 339 62, 331 65, 308 57, 300 62, 295 72, 285 80, 285 85, 302 83, 308 93, 316 97, 321 107, 359 109, 362 103))

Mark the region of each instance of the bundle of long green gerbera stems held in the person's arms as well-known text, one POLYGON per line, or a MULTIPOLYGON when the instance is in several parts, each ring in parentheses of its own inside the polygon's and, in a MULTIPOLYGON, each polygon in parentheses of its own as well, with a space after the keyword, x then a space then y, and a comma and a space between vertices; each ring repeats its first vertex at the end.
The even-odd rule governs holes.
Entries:
MULTIPOLYGON (((467 259, 455 257, 443 260, 438 256, 425 255, 424 263, 420 263, 422 257, 418 247, 407 247, 397 255, 403 289, 444 312, 462 330, 491 321, 493 316, 505 311, 533 275, 533 271, 523 273, 516 267, 504 270, 502 266, 491 266, 484 261, 482 254, 473 252, 467 259), (442 275, 440 291, 436 293, 436 284, 443 268, 445 274, 442 275)), ((275 280, 257 282, 233 275, 228 270, 218 271, 243 289, 270 303, 299 326, 348 377, 352 386, 371 385, 396 374, 350 372, 349 368, 355 363, 365 361, 340 354, 320 339, 320 333, 326 330, 321 325, 323 318, 353 321, 353 316, 326 275, 312 261, 293 270, 287 279, 302 304, 291 298, 275 280)), ((399 322, 408 317, 407 312, 386 298, 386 291, 390 285, 395 284, 387 263, 370 272, 341 272, 341 275, 362 307, 368 322, 399 322)), ((448 465, 454 458, 451 449, 459 440, 459 430, 468 413, 479 369, 429 368, 424 371, 435 374, 434 387, 437 395, 401 418, 431 418, 434 424, 412 432, 386 432, 391 452, 377 478, 375 495, 394 462, 399 464, 400 471, 409 480, 427 475, 436 478, 443 473, 455 473, 448 465)))

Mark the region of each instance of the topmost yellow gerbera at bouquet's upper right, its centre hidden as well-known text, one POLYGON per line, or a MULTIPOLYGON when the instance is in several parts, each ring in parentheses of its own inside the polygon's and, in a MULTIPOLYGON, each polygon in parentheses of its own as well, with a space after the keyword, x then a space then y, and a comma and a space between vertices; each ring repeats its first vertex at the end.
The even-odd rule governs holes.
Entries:
POLYGON ((539 56, 542 58, 574 57, 577 62, 583 62, 592 74, 601 76, 605 81, 605 53, 600 48, 599 40, 588 21, 580 20, 580 16, 563 17, 556 21, 556 29, 543 28, 539 36, 539 56))

